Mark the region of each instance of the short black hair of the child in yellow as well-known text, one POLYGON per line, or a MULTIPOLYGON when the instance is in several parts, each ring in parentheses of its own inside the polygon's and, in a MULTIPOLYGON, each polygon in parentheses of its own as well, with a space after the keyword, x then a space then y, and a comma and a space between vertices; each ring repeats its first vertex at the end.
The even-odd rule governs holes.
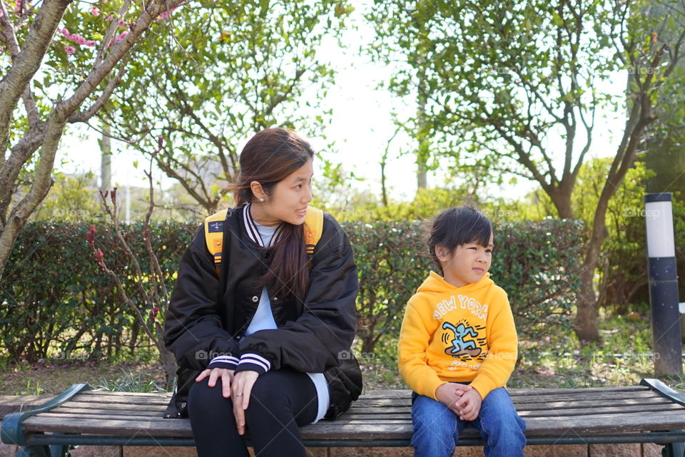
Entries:
POLYGON ((444 246, 450 252, 457 246, 477 243, 487 247, 492 235, 492 224, 479 210, 470 206, 452 207, 439 212, 433 217, 428 234, 428 250, 438 270, 442 265, 435 254, 437 245, 444 246))

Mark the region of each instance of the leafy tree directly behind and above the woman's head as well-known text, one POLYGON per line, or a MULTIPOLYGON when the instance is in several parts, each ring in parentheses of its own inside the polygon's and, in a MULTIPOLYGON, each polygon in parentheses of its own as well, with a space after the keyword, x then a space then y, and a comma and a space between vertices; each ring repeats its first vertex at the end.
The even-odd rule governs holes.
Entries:
POLYGON ((178 11, 176 42, 140 46, 106 107, 113 135, 145 155, 162 145, 156 165, 212 212, 235 181, 240 142, 273 125, 320 133, 333 71, 318 48, 348 11, 330 0, 178 11))

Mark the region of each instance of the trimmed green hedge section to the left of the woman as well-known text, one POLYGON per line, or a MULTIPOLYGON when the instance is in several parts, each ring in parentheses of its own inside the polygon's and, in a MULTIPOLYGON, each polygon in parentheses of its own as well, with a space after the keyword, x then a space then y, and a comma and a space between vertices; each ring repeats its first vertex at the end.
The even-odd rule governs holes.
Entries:
MULTIPOLYGON (((141 342, 131 309, 91 257, 87 231, 85 224, 29 222, 19 235, 0 282, 1 347, 10 359, 73 359, 81 354, 98 359, 141 342)), ((193 232, 194 227, 173 222, 151 227, 170 287, 193 232)), ((145 258, 142 223, 132 225, 130 233, 131 250, 145 258)), ((111 226, 101 227, 97 236, 108 265, 126 272, 128 257, 117 249, 111 226)), ((149 274, 149 265, 141 267, 149 274)), ((135 291, 131 276, 123 283, 128 292, 135 291)))

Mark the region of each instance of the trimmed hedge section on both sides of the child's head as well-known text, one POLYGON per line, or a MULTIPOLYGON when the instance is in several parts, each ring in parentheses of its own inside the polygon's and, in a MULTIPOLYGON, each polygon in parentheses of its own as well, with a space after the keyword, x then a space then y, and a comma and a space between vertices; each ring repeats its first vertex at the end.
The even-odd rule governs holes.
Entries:
MULTIPOLYGON (((343 225, 355 249, 360 291, 357 337, 362 354, 397 334, 405 304, 431 269, 422 222, 343 225)), ((570 329, 584 242, 577 221, 509 222, 494 226, 492 278, 509 295, 519 334, 537 338, 570 329)))

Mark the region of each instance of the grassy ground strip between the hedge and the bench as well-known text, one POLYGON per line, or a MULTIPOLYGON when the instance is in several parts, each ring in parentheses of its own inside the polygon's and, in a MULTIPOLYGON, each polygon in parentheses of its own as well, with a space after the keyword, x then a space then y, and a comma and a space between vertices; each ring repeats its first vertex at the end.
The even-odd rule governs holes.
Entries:
MULTIPOLYGON (((519 342, 519 362, 507 384, 519 387, 590 387, 638 384, 654 377, 649 317, 602 317, 602 342, 582 345, 575 334, 555 332, 519 342)), ((357 351, 365 390, 407 389, 397 373, 397 337, 385 337, 371 354, 357 351)), ((59 394, 76 382, 110 391, 163 391, 164 374, 152 354, 120 361, 43 361, 29 366, 0 361, 1 395, 59 394)), ((685 389, 685 376, 664 379, 685 389)))

